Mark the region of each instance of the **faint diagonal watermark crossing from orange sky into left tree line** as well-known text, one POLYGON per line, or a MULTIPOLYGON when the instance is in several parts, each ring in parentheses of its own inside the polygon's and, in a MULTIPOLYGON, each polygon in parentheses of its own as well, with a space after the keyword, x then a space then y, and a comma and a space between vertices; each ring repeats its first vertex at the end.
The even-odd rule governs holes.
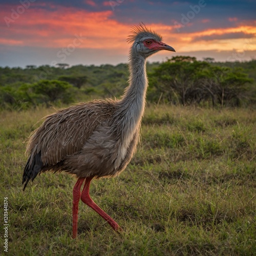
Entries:
MULTIPOLYGON (((69 44, 66 48, 62 48, 61 50, 57 51, 56 56, 60 60, 53 60, 50 63, 50 66, 55 66, 59 61, 65 61, 67 59, 67 56, 70 56, 72 52, 75 51, 75 49, 80 46, 83 42, 83 40, 86 39, 82 37, 82 33, 75 34, 75 38, 73 39, 73 42, 69 44)), ((51 69, 44 69, 44 71, 41 71, 39 76, 34 76, 34 82, 37 82, 42 79, 47 79, 47 76, 52 74, 52 68, 51 69)))

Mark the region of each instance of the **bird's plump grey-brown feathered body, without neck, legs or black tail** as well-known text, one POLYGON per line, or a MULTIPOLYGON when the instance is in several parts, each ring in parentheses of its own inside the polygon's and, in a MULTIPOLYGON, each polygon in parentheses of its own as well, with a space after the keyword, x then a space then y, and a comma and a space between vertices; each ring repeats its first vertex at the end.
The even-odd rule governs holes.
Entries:
POLYGON ((95 100, 49 115, 29 140, 28 166, 40 156, 40 172, 66 171, 77 178, 116 176, 130 162, 139 137, 134 120, 125 125, 130 133, 123 133, 118 116, 113 118, 117 112, 115 101, 95 100))

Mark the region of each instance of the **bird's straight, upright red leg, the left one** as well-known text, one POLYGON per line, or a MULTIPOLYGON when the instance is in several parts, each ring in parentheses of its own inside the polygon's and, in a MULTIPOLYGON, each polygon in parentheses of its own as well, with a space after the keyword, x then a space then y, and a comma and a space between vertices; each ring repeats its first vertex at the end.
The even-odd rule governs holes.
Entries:
POLYGON ((85 178, 79 178, 73 188, 73 238, 77 236, 78 203, 81 197, 81 185, 85 178))

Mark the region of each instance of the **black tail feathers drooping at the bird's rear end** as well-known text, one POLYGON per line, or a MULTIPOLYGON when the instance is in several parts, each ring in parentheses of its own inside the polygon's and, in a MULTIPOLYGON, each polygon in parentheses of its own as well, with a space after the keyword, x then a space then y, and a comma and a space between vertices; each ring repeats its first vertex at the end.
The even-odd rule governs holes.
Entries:
POLYGON ((37 176, 37 174, 41 172, 41 169, 44 166, 41 159, 41 152, 37 153, 34 156, 31 164, 30 164, 30 161, 31 161, 31 156, 28 159, 28 162, 25 166, 24 173, 23 173, 22 184, 26 182, 24 185, 23 191, 25 190, 28 182, 30 180, 33 181, 37 176))

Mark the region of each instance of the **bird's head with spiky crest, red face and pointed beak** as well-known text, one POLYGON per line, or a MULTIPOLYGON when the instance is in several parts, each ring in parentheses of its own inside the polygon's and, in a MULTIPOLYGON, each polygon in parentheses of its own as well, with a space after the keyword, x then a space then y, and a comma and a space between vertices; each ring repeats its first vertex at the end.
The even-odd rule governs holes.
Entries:
POLYGON ((161 35, 147 29, 144 24, 134 26, 127 41, 133 43, 133 53, 141 55, 145 58, 160 50, 175 52, 173 47, 162 42, 161 35))

